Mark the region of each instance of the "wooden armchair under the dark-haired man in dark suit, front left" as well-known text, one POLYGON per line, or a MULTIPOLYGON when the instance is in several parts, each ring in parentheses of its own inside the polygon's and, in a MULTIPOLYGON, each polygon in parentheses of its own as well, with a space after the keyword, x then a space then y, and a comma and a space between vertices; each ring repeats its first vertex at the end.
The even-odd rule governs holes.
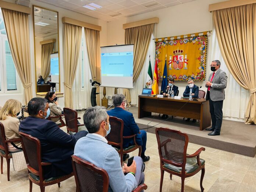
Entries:
POLYGON ((58 184, 58 187, 60 187, 61 181, 73 176, 73 173, 71 173, 69 175, 44 179, 42 166, 47 166, 51 163, 42 162, 41 143, 39 139, 22 132, 19 132, 19 136, 28 167, 29 192, 32 192, 32 183, 39 185, 41 192, 44 192, 45 186, 58 184))

